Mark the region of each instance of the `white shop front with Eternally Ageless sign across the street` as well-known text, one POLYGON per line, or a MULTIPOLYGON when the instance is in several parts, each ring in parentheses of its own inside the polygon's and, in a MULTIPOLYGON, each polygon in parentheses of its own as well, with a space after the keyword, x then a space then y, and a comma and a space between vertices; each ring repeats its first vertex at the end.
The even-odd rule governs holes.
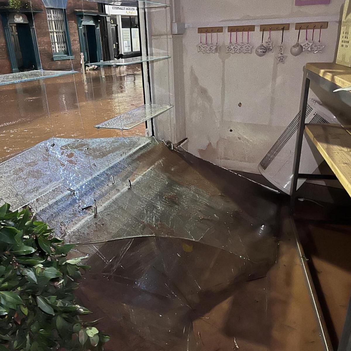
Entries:
POLYGON ((138 9, 108 5, 105 11, 110 14, 113 56, 140 56, 138 9))

